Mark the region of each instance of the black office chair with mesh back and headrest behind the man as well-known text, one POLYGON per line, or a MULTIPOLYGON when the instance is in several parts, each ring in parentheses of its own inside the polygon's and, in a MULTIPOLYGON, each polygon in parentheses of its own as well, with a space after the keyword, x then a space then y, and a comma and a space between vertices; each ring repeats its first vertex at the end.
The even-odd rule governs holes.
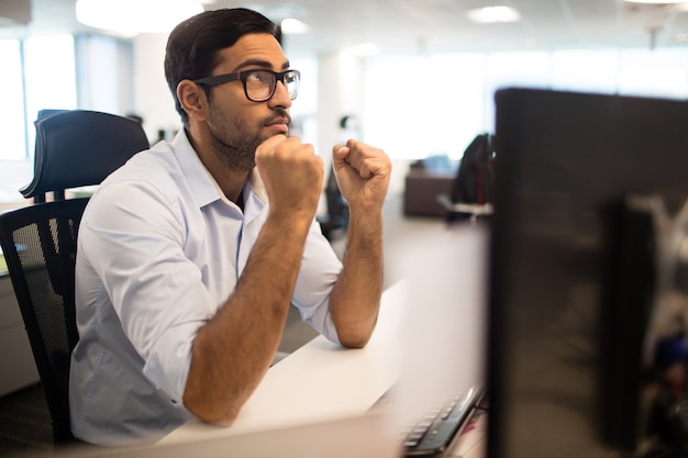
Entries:
POLYGON ((0 215, 0 246, 45 392, 53 438, 60 444, 74 439, 68 399, 70 354, 79 339, 74 271, 88 202, 88 197, 65 199, 65 190, 99 185, 147 149, 148 141, 140 123, 95 111, 52 114, 36 120, 35 127, 34 178, 21 189, 35 203, 0 215), (53 201, 46 202, 51 192, 53 201))

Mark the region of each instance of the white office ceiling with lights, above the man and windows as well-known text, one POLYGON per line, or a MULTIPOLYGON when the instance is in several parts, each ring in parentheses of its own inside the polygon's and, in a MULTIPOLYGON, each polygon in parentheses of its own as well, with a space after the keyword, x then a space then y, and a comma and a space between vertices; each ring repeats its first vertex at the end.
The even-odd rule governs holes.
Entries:
MULTIPOLYGON (((76 21, 76 0, 19 1, 31 1, 32 22, 0 22, 0 37, 93 31, 76 21)), ((290 55, 364 42, 403 53, 688 46, 688 12, 622 0, 215 0, 206 9, 238 5, 273 20, 291 11, 307 22, 309 34, 285 37, 290 55), (515 8, 522 21, 477 25, 466 18, 473 8, 496 3, 515 8)))

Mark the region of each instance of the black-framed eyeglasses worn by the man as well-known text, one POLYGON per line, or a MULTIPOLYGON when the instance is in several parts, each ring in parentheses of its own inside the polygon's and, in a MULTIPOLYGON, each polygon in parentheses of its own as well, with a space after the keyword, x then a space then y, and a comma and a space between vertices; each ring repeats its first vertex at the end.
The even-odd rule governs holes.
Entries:
POLYGON ((299 94, 301 72, 299 70, 244 70, 234 74, 200 78, 193 82, 212 88, 236 80, 241 80, 244 83, 244 93, 246 93, 246 98, 253 102, 265 102, 269 100, 275 93, 277 81, 281 81, 285 85, 289 98, 293 100, 299 94))

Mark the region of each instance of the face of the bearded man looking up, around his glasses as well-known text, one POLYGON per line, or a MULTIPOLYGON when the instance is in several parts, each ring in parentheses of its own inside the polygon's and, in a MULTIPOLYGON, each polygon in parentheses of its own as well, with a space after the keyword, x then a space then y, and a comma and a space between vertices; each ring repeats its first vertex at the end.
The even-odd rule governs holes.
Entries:
MULTIPOLYGON (((269 34, 248 34, 220 53, 220 65, 212 75, 243 70, 282 71, 289 67, 277 40, 269 34)), ((260 143, 277 134, 287 134, 291 99, 278 81, 269 100, 248 100, 242 81, 231 81, 211 89, 208 126, 215 149, 228 166, 248 171, 255 165, 260 143)))

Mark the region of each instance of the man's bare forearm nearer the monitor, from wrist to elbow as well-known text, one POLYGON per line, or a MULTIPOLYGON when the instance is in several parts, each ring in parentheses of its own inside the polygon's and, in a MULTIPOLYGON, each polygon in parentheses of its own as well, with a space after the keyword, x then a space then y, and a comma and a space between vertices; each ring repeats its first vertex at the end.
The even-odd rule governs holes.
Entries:
POLYGON ((342 345, 364 347, 373 334, 384 281, 382 215, 352 213, 344 268, 330 298, 342 345))

